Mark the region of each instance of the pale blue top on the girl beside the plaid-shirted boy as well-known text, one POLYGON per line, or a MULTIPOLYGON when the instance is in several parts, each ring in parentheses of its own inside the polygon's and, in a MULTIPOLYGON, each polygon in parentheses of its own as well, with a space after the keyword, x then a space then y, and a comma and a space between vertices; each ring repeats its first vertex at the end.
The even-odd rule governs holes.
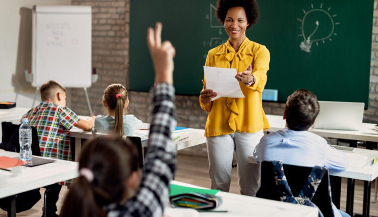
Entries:
MULTIPOLYGON (((123 135, 133 136, 135 130, 142 129, 143 122, 134 115, 123 116, 123 135)), ((95 119, 95 129, 99 133, 108 133, 114 129, 114 117, 98 115, 95 119)))

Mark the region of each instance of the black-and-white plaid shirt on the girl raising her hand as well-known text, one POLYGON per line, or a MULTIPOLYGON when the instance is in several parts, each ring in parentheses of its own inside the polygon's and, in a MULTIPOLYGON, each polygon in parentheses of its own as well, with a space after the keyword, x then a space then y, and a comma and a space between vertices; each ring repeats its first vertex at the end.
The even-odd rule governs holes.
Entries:
POLYGON ((153 109, 143 178, 136 196, 125 204, 107 207, 108 216, 162 216, 168 202, 169 181, 175 171, 176 126, 174 87, 159 83, 152 90, 153 109))

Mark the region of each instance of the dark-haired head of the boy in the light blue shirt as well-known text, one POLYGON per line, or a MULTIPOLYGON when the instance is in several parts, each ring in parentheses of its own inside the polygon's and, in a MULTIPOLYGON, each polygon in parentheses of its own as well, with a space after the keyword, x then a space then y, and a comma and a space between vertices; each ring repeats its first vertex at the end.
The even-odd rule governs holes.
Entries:
POLYGON ((318 98, 311 91, 296 90, 287 97, 284 118, 290 130, 308 130, 320 111, 318 98))

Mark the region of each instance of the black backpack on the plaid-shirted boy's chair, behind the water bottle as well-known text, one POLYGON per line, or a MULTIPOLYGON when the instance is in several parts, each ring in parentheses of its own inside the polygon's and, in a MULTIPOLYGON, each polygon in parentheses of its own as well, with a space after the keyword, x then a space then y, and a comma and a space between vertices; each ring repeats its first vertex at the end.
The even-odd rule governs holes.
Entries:
MULTIPOLYGON (((20 125, 12 124, 11 122, 2 122, 2 143, 0 148, 6 151, 20 152, 19 144, 19 128, 20 125)), ((38 133, 35 127, 32 128, 32 153, 36 156, 41 156, 39 150, 38 133)), ((41 199, 39 188, 16 195, 16 212, 22 212, 30 209, 41 199)), ((8 211, 11 207, 11 197, 0 199, 0 208, 8 211)))

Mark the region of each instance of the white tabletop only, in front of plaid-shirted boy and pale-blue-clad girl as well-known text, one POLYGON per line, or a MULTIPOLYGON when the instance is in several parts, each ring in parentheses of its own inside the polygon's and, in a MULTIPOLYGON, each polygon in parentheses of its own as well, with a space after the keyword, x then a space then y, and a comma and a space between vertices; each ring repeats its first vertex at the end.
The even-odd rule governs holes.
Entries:
MULTIPOLYGON (((183 134, 185 134, 185 132, 183 132, 183 134)), ((180 135, 180 133, 176 133, 175 135, 180 135)), ((205 135, 205 130, 190 128, 189 138, 182 141, 174 141, 174 143, 177 145, 177 150, 181 150, 184 148, 206 143, 206 137, 204 135, 205 135)), ((92 138, 93 135, 91 131, 84 131, 84 130, 74 127, 70 130, 70 136, 74 138, 89 139, 89 138, 92 138)), ((147 142, 142 142, 142 146, 146 147, 147 142)))

